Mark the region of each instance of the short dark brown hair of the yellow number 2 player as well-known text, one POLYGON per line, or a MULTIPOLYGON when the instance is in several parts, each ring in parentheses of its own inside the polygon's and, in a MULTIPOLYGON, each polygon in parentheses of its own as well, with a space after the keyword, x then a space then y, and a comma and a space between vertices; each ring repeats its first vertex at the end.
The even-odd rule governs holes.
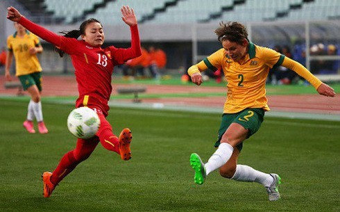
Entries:
POLYGON ((216 28, 215 33, 219 42, 230 40, 231 42, 241 44, 244 39, 248 40, 247 29, 239 22, 227 22, 226 24, 221 22, 219 23, 219 28, 216 28))

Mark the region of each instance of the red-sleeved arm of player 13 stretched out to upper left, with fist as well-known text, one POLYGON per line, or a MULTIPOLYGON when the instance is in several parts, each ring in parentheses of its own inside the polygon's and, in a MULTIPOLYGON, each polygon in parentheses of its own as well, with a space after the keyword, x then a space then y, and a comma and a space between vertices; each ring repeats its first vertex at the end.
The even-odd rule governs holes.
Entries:
POLYGON ((22 24, 22 26, 24 26, 28 31, 31 31, 33 34, 46 40, 47 42, 50 42, 57 47, 60 46, 60 35, 57 35, 56 33, 53 33, 46 28, 26 19, 19 13, 17 9, 13 7, 7 8, 7 18, 12 22, 18 22, 19 24, 22 24))

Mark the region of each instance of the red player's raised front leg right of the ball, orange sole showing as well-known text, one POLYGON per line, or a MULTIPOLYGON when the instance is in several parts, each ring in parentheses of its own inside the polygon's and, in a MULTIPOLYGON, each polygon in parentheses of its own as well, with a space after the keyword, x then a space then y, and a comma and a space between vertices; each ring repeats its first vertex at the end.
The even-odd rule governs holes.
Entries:
POLYGON ((131 158, 130 142, 132 140, 132 133, 130 129, 126 128, 121 131, 119 138, 112 132, 111 124, 106 120, 105 116, 98 113, 99 119, 101 120, 101 127, 96 133, 99 137, 101 145, 105 149, 120 154, 121 159, 128 161, 131 158))

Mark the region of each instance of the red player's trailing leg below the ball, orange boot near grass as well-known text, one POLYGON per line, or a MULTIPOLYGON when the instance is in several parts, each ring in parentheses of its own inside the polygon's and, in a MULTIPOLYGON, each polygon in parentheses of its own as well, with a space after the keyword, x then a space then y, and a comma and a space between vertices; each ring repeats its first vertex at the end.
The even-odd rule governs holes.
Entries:
POLYGON ((50 197, 59 182, 72 172, 80 162, 85 161, 92 154, 98 143, 98 137, 88 140, 78 138, 76 148, 62 156, 56 170, 53 173, 44 172, 42 174, 44 197, 50 197))

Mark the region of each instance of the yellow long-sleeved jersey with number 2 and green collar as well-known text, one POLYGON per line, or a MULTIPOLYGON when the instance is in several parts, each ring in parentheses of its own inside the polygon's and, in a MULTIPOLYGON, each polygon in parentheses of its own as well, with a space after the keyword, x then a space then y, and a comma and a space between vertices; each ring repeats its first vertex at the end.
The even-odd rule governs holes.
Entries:
POLYGON ((260 47, 252 42, 248 45, 248 54, 241 63, 229 58, 225 49, 219 49, 200 63, 189 68, 188 74, 201 73, 209 68, 215 71, 223 70, 227 83, 227 99, 223 113, 238 113, 246 108, 263 108, 269 111, 266 98, 266 78, 274 66, 289 67, 300 76, 307 79, 317 88, 321 81, 297 63, 284 55, 266 47, 260 47))

